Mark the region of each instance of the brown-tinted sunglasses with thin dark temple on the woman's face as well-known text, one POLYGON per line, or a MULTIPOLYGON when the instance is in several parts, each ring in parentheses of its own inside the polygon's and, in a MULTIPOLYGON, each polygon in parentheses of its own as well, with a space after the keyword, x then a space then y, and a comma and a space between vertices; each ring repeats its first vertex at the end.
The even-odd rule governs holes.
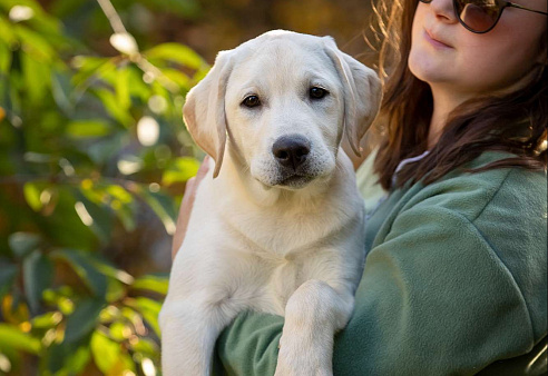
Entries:
MULTIPOLYGON (((432 0, 420 0, 430 3, 432 0)), ((529 9, 506 0, 453 0, 454 16, 464 28, 476 33, 488 32, 500 19, 506 8, 518 8, 548 16, 547 12, 529 9)))

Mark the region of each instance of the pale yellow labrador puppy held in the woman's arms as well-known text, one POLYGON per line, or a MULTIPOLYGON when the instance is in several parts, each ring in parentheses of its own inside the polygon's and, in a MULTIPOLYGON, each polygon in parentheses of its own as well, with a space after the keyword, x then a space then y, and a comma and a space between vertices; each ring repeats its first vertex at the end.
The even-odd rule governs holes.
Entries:
POLYGON ((159 317, 165 375, 208 375, 218 334, 246 309, 285 316, 276 375, 332 374, 364 258, 340 145, 359 154, 379 103, 375 72, 330 37, 277 30, 218 53, 184 107, 214 161, 159 317))

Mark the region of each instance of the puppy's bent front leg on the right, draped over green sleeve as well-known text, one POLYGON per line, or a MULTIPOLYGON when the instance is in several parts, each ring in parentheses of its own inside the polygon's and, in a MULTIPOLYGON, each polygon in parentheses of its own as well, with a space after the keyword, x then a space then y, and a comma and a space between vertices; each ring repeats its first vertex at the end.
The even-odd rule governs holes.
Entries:
POLYGON ((350 289, 339 293, 317 279, 301 285, 285 307, 275 376, 333 375, 333 336, 353 308, 350 289))

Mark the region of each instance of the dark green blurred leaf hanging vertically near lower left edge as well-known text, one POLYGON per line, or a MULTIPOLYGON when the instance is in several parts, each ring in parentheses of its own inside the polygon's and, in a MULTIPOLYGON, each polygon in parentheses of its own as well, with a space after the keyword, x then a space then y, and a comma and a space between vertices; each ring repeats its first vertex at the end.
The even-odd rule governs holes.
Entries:
POLYGON ((41 251, 35 250, 23 260, 25 294, 32 313, 40 307, 42 293, 51 285, 53 279, 53 266, 51 260, 41 251))

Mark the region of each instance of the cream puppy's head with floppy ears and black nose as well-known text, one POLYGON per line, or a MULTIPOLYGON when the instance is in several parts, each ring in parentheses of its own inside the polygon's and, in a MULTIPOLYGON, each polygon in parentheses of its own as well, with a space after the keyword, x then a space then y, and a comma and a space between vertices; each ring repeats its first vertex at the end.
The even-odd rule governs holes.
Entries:
POLYGON ((375 72, 332 38, 271 31, 221 52, 188 93, 184 118, 215 159, 214 177, 228 132, 253 178, 297 189, 333 172, 343 133, 360 154, 380 97, 375 72))

